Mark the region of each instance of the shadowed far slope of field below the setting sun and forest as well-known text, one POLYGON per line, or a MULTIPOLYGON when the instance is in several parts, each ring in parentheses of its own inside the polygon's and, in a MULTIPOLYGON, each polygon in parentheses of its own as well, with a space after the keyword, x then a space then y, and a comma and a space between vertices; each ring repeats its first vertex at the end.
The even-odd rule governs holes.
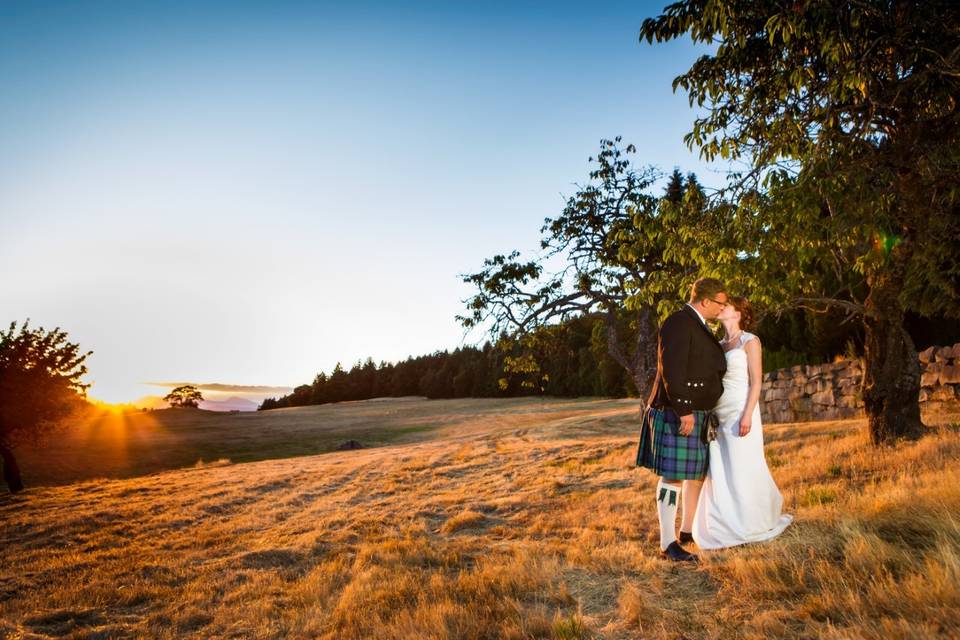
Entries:
POLYGON ((632 400, 530 398, 433 400, 378 398, 273 411, 202 409, 147 412, 94 410, 40 446, 17 451, 28 486, 94 478, 129 478, 211 460, 254 462, 335 451, 347 440, 379 447, 469 439, 481 433, 534 427, 590 428, 608 416, 637 411, 632 400))

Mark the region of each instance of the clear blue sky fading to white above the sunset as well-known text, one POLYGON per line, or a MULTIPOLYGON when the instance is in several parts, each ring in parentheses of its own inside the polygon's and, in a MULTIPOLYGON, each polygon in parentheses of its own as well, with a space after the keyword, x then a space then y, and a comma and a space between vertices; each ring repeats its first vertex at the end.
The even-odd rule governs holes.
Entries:
POLYGON ((454 348, 457 274, 536 249, 601 138, 719 182, 662 6, 6 1, 0 322, 112 402, 454 348))

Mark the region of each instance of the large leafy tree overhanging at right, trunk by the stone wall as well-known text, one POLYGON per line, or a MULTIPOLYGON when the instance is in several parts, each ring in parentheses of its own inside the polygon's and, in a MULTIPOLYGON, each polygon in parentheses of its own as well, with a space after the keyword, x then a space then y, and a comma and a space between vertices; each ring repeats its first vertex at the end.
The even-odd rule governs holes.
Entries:
POLYGON ((905 311, 960 314, 960 5, 690 0, 641 28, 685 35, 711 49, 674 80, 701 108, 687 142, 742 167, 690 259, 862 321, 873 441, 920 433, 905 311))

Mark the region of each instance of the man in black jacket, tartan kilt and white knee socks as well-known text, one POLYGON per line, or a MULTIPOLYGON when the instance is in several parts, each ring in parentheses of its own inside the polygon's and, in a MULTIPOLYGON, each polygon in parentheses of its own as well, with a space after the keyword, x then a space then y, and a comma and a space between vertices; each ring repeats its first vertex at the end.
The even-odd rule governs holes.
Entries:
POLYGON ((691 287, 690 301, 660 327, 657 378, 641 427, 637 466, 660 476, 656 494, 660 553, 674 561, 697 560, 677 542, 674 527, 682 491, 680 542, 693 541, 693 516, 708 463, 704 431, 710 410, 723 394, 727 370, 723 348, 707 320, 715 319, 726 305, 723 283, 700 278, 691 287))

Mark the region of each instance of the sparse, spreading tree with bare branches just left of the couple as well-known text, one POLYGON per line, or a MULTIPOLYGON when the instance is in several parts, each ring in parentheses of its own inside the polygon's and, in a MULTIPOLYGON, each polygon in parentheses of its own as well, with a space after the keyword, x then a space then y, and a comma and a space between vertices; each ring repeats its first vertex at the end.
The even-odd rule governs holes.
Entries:
MULTIPOLYGON (((595 167, 589 182, 578 187, 559 216, 544 221, 540 256, 496 255, 465 275, 476 293, 464 301, 467 314, 458 320, 468 329, 479 326, 494 337, 522 340, 553 322, 602 317, 610 356, 637 392, 646 393, 656 373, 658 311, 676 301, 677 282, 690 280, 697 268, 665 259, 660 199, 651 192, 660 173, 635 168, 629 159, 634 153, 619 137, 602 140, 600 152, 590 158, 595 167), (653 280, 673 286, 653 286, 653 280)), ((677 215, 689 212, 678 208, 677 215)), ((517 362, 531 366, 529 358, 517 362)))

